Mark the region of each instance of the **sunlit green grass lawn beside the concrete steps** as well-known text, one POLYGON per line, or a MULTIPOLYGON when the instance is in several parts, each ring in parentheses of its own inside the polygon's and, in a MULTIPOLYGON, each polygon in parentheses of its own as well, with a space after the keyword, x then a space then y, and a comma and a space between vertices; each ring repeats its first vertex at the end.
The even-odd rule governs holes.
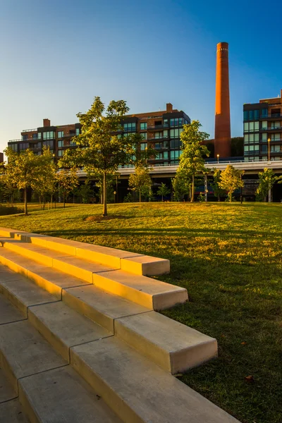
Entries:
POLYGON ((282 422, 282 204, 111 204, 2 216, 0 226, 171 260, 162 281, 190 301, 164 314, 219 343, 219 358, 179 376, 247 423, 282 422), (247 376, 252 378, 245 379, 247 376))

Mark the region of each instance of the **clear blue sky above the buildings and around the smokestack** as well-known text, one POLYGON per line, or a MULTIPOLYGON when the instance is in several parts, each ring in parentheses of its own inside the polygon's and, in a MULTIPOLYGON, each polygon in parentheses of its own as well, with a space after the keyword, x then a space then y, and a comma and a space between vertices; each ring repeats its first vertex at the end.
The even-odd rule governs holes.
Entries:
POLYGON ((243 103, 282 88, 282 2, 0 0, 0 150, 43 118, 78 121, 94 96, 130 113, 176 109, 214 137, 216 44, 229 43, 232 136, 243 103))

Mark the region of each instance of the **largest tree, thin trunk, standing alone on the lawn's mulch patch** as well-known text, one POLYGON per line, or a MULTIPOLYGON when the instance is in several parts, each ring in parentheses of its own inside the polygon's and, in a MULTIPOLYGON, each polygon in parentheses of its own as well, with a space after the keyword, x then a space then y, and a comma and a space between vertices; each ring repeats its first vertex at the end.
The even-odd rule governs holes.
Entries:
POLYGON ((109 103, 105 109, 100 97, 95 97, 92 106, 85 114, 78 113, 81 134, 73 137, 78 147, 67 150, 60 161, 64 167, 84 167, 88 173, 98 174, 103 178, 103 216, 107 216, 106 177, 114 175, 118 166, 128 161, 134 154, 130 138, 117 135, 123 130, 121 120, 129 111, 124 100, 109 103))

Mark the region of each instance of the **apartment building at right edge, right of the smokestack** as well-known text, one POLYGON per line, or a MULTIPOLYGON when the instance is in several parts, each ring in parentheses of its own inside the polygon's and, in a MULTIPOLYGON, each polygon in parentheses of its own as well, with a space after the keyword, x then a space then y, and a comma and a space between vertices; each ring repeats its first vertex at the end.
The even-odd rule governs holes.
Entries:
POLYGON ((244 158, 282 160, 282 90, 280 97, 244 104, 244 158))

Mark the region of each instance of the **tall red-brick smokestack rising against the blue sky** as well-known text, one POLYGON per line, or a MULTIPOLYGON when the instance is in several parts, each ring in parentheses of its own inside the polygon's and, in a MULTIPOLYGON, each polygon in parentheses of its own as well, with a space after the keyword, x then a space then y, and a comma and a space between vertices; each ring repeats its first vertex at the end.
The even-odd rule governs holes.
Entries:
POLYGON ((231 156, 228 42, 216 46, 216 119, 214 157, 231 156))

